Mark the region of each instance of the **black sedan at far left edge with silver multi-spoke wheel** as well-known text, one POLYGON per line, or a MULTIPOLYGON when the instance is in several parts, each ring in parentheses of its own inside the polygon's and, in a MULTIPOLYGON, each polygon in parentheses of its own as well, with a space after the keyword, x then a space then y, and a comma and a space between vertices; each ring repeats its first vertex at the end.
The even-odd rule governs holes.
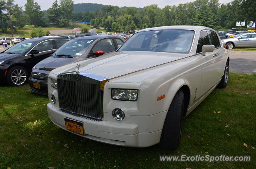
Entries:
POLYGON ((36 38, 22 41, 0 53, 0 81, 20 86, 28 81, 32 67, 52 55, 66 38, 36 38))

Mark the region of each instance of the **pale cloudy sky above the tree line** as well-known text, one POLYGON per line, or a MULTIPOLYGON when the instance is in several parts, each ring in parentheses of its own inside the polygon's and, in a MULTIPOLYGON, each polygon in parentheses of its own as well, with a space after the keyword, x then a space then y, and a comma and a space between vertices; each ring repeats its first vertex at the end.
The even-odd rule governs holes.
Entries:
MULTIPOLYGON (((178 5, 178 4, 184 4, 186 2, 192 2, 194 0, 108 0, 106 3, 102 3, 102 0, 74 0, 74 4, 78 3, 97 3, 97 4, 104 4, 104 5, 113 5, 113 6, 135 6, 135 7, 141 7, 151 5, 151 4, 157 4, 158 7, 164 8, 166 5, 178 5)), ((226 4, 228 2, 231 2, 232 0, 219 0, 220 3, 226 4)), ((34 2, 37 2, 41 6, 41 10, 47 10, 52 6, 52 3, 54 0, 34 0, 34 2)), ((23 6, 26 4, 26 0, 15 0, 15 4, 19 4, 19 6, 23 6)), ((24 8, 23 8, 24 9, 24 8)))

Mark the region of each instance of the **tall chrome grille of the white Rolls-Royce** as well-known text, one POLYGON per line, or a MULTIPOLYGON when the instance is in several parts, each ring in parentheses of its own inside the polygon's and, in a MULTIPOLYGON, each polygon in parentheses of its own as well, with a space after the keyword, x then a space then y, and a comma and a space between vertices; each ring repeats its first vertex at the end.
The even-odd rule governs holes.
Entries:
POLYGON ((99 78, 99 76, 89 73, 58 75, 60 110, 87 118, 102 120, 103 91, 100 90, 100 80, 102 79, 106 80, 104 77, 99 78))

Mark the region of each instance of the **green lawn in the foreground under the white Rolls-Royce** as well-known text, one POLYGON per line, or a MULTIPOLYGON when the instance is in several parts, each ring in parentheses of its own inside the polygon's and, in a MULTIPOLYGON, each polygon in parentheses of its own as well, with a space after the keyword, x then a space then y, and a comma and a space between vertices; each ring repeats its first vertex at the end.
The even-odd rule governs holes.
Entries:
POLYGON ((256 75, 230 73, 226 88, 215 89, 184 118, 176 151, 84 139, 54 125, 46 110, 48 98, 31 93, 28 85, 0 86, 0 169, 255 169, 256 149, 251 147, 256 147, 255 84, 256 75), (204 155, 206 151, 209 155, 250 155, 252 161, 159 161, 159 155, 204 155))

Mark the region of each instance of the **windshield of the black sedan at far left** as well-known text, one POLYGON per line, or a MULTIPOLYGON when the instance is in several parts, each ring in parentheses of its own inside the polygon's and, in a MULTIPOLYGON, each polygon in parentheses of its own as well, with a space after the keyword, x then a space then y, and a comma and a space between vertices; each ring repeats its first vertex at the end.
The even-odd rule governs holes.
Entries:
POLYGON ((13 45, 12 47, 4 51, 4 53, 15 53, 15 54, 25 53, 35 43, 36 41, 22 41, 16 45, 13 45))

